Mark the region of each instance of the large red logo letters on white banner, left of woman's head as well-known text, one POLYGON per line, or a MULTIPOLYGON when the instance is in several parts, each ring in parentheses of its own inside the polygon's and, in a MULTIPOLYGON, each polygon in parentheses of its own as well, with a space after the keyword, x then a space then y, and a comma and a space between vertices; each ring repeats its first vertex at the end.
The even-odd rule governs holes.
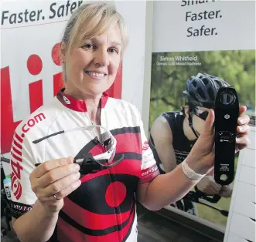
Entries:
MULTIPOLYGON (((53 62, 60 66, 60 58, 58 55, 58 49, 60 44, 56 44, 52 49, 53 62)), ((39 75, 43 69, 43 62, 39 55, 30 55, 27 59, 27 69, 33 76, 39 75)), ((56 96, 60 88, 63 87, 62 72, 53 75, 53 96, 56 96)), ((39 79, 36 82, 29 83, 29 106, 30 113, 33 113, 36 109, 43 105, 43 80, 39 79)), ((13 121, 12 110, 12 93, 10 83, 10 67, 6 66, 1 69, 1 153, 9 153, 11 150, 12 136, 22 121, 13 121)), ((35 117, 36 119, 36 117, 35 117)), ((36 120, 35 120, 36 121, 36 120)), ((37 121, 36 121, 37 123, 37 121)), ((27 126, 23 128, 28 129, 29 126, 33 126, 33 121, 29 121, 27 126)), ((28 130, 27 130, 28 131, 28 130)), ((23 132, 25 132, 23 130, 23 132)))

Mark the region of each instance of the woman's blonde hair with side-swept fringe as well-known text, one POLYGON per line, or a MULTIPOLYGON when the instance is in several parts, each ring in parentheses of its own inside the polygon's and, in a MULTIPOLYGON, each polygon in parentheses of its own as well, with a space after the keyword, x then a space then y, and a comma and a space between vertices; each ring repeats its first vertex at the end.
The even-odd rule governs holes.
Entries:
MULTIPOLYGON (((65 43, 66 52, 69 53, 83 39, 93 39, 116 24, 121 32, 121 55, 123 55, 128 44, 127 27, 114 5, 107 2, 90 2, 80 5, 71 15, 63 33, 62 42, 65 43)), ((63 63, 62 67, 63 79, 67 82, 66 64, 63 63)))

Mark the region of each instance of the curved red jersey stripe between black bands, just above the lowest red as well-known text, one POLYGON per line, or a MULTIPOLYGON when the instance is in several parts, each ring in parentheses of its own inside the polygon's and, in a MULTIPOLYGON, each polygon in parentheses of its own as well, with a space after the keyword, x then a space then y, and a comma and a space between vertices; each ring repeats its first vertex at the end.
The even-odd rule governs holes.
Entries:
MULTIPOLYGON (((97 214, 91 213, 84 208, 79 207, 76 203, 73 203, 67 197, 64 200, 63 212, 67 214, 71 219, 75 220, 83 227, 87 227, 90 230, 104 230, 108 227, 117 225, 117 218, 115 214, 97 214), (108 223, 106 223, 108 221, 108 223), (106 227, 107 225, 107 227, 106 227)), ((122 220, 128 220, 131 211, 121 213, 122 220)))

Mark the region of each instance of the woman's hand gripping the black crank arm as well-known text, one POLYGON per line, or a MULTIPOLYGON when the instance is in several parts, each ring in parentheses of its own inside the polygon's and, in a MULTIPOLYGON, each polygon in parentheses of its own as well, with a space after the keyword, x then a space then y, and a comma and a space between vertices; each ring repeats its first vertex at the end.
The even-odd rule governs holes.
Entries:
MULTIPOLYGON (((239 107, 239 118, 237 121, 237 139, 236 139, 236 149, 237 153, 239 150, 244 149, 249 146, 250 139, 248 137, 248 132, 250 126, 249 116, 245 115, 246 106, 239 107)), ((214 166, 214 111, 210 109, 209 115, 204 125, 203 133, 197 139, 195 145, 186 158, 186 162, 189 167, 196 171, 196 173, 206 174, 213 169, 214 166)))

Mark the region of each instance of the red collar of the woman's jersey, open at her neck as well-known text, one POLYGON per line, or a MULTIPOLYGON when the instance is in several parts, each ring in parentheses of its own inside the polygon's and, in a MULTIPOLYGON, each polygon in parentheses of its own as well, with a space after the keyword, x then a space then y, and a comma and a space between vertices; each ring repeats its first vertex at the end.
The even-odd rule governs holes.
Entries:
MULTIPOLYGON (((84 100, 74 99, 72 96, 64 93, 65 89, 60 89, 60 92, 57 94, 57 99, 63 106, 66 106, 68 109, 72 109, 77 112, 87 112, 87 105, 84 100)), ((108 94, 103 92, 101 96, 101 109, 104 109, 108 101, 108 94)))

